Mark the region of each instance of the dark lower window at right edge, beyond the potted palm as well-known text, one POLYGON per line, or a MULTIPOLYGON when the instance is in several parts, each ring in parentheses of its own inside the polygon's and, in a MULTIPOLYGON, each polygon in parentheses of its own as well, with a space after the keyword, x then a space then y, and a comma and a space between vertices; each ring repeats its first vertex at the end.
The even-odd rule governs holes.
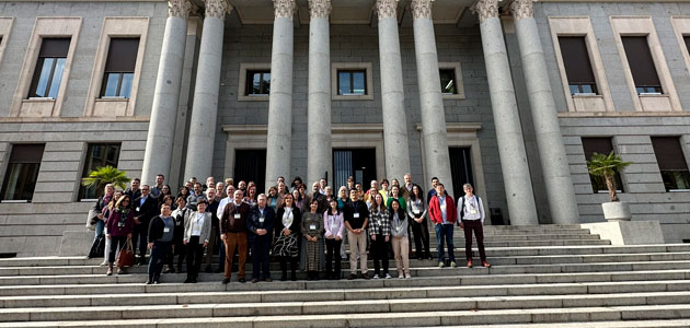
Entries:
POLYGON ((690 189, 690 172, 680 140, 676 137, 652 137, 652 147, 666 191, 690 189))

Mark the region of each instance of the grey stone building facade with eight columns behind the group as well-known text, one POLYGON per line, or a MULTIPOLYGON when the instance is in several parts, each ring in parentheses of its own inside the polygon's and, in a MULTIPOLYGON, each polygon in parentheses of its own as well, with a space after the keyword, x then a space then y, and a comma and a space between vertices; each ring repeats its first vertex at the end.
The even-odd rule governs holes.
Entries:
POLYGON ((597 222, 608 195, 586 154, 607 142, 633 162, 620 176, 633 220, 682 242, 688 35, 688 1, 0 1, 0 254, 82 236, 93 192, 79 180, 99 161, 173 189, 439 176, 452 194, 472 181, 494 223, 597 222), (637 91, 626 36, 645 36, 658 90, 637 91), (594 92, 572 92, 562 37, 584 43, 594 92), (110 56, 123 38, 138 39, 125 73, 110 56), (46 39, 69 39, 65 54, 46 39), (61 80, 41 83, 45 58, 61 80), (266 73, 269 91, 252 89, 266 73))

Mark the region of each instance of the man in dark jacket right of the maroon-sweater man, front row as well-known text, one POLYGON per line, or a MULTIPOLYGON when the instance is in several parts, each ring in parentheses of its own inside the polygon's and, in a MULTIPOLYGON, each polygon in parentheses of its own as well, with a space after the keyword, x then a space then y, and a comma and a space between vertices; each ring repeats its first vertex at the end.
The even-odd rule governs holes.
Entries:
POLYGON ((260 277, 266 282, 272 281, 268 251, 273 241, 275 221, 276 214, 266 204, 266 195, 258 195, 256 206, 252 207, 246 220, 249 241, 252 244, 252 283, 258 282, 260 277))

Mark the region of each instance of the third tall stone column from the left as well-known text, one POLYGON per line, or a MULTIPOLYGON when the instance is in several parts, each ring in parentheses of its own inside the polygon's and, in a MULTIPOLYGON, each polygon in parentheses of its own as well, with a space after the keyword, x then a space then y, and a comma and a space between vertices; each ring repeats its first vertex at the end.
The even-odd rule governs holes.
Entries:
POLYGON ((273 0, 273 48, 271 51, 271 94, 266 140, 266 188, 278 176, 290 177, 292 141, 292 14, 295 0, 273 0))

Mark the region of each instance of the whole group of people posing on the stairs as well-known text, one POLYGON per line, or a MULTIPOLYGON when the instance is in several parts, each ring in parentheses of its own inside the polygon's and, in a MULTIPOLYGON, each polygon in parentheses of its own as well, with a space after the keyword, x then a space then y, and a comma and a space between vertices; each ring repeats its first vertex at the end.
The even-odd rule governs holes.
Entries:
MULTIPOLYGON (((320 279, 322 272, 326 279, 341 279, 341 262, 347 258, 346 243, 347 279, 370 279, 368 254, 373 259, 372 278, 391 279, 389 253, 395 259, 398 278, 410 279, 411 256, 433 259, 428 218, 436 232, 439 267, 456 267, 452 234, 457 223, 464 230, 467 266, 473 266, 474 234, 481 263, 491 267, 483 245, 484 207, 471 185, 463 186, 465 195, 456 202, 436 177, 426 198, 410 174, 403 180, 402 186, 396 179, 392 184, 387 179, 372 180, 365 191, 349 177, 347 186, 340 187, 334 195, 325 179, 313 183, 307 194, 307 186, 299 177, 289 187, 284 177, 278 177, 266 194, 257 194, 253 181, 241 180, 235 188, 232 178, 215 183, 209 177, 205 184, 191 178, 173 196, 162 175, 157 176, 152 187, 140 185, 135 178, 124 191, 105 186, 94 206, 97 213, 94 243, 99 235, 106 235, 103 265, 107 265, 107 276, 114 272, 116 254, 128 243, 139 253, 138 266, 146 265, 150 249, 148 284, 160 282, 165 266, 164 272, 182 271, 185 260, 185 283, 196 282, 203 262, 210 272, 216 245, 218 272, 225 272, 223 284, 230 282, 235 253, 239 282, 246 282, 245 263, 250 254, 254 283, 272 281, 272 256, 280 265, 283 281, 288 280, 288 271, 289 279, 297 280, 299 267, 307 271, 309 280, 320 279), (414 236, 414 253, 410 235, 414 236)), ((116 273, 124 273, 124 269, 118 267, 116 273)))

